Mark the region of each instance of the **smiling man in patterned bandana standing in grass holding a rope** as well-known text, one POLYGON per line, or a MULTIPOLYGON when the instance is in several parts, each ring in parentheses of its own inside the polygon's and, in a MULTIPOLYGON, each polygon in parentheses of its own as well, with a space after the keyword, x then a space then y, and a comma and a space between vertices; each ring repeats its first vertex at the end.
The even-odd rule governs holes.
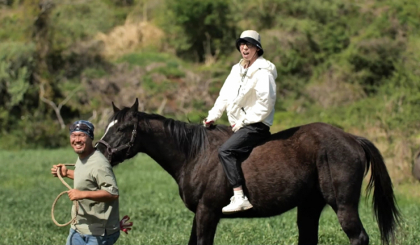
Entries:
POLYGON ((62 177, 74 180, 68 192, 70 200, 78 200, 79 209, 71 210, 70 234, 66 245, 111 245, 120 237, 118 211, 118 186, 111 164, 92 144, 94 126, 90 121, 76 121, 70 126, 70 144, 78 159, 76 168, 53 165, 52 175, 57 177, 60 168, 62 177))

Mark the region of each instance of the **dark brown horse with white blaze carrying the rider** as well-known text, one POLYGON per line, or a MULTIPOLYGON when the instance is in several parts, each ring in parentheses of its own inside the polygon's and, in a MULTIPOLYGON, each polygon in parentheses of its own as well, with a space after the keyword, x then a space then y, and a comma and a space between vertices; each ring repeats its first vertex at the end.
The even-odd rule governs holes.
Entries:
POLYGON ((189 244, 213 244, 221 218, 269 217, 297 207, 299 244, 318 243, 318 220, 325 205, 337 214, 351 244, 368 244, 358 203, 363 177, 373 191, 381 240, 393 241, 399 211, 384 160, 372 142, 329 124, 314 123, 275 133, 241 164, 244 191, 253 209, 226 216, 232 188, 218 161, 218 147, 232 135, 228 126, 205 128, 138 112, 114 114, 97 148, 116 165, 139 152, 151 156, 179 185, 186 207, 195 213, 189 244))

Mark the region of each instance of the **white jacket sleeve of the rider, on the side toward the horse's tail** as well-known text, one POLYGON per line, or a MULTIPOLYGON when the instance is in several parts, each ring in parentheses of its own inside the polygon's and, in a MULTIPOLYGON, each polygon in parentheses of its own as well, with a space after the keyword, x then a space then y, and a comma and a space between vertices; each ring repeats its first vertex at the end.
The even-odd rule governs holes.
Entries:
POLYGON ((276 82, 268 70, 260 70, 254 89, 257 101, 252 106, 252 110, 246 112, 244 124, 263 121, 272 112, 276 103, 276 82))

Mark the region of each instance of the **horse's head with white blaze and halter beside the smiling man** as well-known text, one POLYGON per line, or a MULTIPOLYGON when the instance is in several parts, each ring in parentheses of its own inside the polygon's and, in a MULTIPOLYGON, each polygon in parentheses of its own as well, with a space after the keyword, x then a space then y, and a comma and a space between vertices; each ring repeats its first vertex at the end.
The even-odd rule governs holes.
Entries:
POLYGON ((109 120, 104 136, 97 142, 97 149, 108 158, 111 165, 122 163, 139 152, 136 145, 137 127, 139 125, 139 100, 132 107, 120 110, 114 103, 113 116, 109 120))

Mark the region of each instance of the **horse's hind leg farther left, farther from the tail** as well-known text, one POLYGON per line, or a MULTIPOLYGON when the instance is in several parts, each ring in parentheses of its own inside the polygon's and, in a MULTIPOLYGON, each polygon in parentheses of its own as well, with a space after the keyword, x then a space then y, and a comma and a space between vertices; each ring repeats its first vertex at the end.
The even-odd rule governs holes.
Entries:
POLYGON ((308 198, 297 206, 297 228, 299 229, 299 245, 318 244, 318 222, 325 200, 321 194, 308 198))

